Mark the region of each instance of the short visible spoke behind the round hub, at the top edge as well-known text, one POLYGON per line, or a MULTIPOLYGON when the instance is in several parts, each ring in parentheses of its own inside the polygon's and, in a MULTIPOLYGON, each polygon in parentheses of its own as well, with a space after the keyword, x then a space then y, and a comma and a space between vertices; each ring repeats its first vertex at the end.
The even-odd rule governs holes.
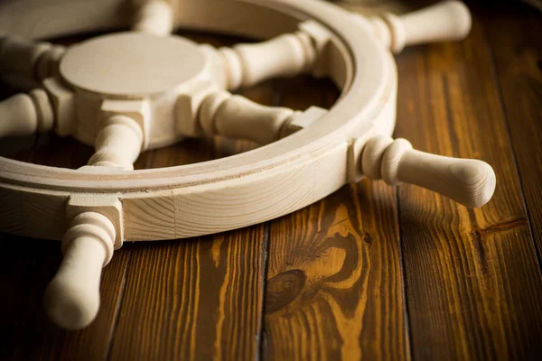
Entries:
POLYGON ((169 35, 173 31, 173 9, 164 0, 137 0, 132 30, 154 35, 169 35))

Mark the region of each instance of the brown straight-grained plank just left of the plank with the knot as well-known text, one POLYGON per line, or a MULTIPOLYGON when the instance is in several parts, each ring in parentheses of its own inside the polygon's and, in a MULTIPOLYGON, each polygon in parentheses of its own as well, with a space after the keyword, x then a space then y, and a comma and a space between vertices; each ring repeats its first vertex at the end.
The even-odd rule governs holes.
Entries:
POLYGON ((253 358, 264 243, 257 226, 134 245, 110 358, 253 358))

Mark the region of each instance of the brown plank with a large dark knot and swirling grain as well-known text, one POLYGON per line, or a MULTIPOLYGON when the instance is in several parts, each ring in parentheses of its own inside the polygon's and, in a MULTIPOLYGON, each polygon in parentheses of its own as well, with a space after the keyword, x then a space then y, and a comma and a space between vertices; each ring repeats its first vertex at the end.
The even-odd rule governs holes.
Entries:
MULTIPOLYGON (((281 105, 331 106, 338 92, 322 82, 283 83, 281 105)), ((364 180, 271 222, 264 356, 407 358, 395 204, 364 180)))

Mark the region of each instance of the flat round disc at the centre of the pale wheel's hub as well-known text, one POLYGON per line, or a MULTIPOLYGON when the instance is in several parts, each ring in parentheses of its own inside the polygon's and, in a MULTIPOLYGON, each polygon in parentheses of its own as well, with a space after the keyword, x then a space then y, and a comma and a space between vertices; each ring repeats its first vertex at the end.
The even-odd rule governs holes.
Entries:
POLYGON ((73 46, 61 60, 61 76, 75 88, 117 97, 164 93, 197 77, 205 57, 179 36, 120 32, 73 46))

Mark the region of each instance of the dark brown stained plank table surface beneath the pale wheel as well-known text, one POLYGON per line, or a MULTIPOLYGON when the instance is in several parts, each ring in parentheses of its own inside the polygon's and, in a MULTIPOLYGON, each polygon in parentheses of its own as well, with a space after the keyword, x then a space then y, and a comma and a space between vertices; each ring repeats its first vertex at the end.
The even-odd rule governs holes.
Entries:
MULTIPOLYGON (((0 358, 539 356, 542 15, 514 1, 471 5, 464 42, 397 56, 395 136, 422 151, 491 163, 498 183, 488 205, 469 209, 413 186, 362 180, 254 227, 126 243, 104 270, 98 318, 77 332, 57 329, 42 311, 43 290, 61 262, 58 242, 2 235, 0 358)), ((332 106, 339 94, 330 81, 309 77, 240 93, 296 109, 332 106)), ((252 146, 187 140, 143 154, 136 168, 203 162, 252 146)), ((92 153, 53 135, 5 139, 0 148, 15 159, 71 168, 92 153)))

